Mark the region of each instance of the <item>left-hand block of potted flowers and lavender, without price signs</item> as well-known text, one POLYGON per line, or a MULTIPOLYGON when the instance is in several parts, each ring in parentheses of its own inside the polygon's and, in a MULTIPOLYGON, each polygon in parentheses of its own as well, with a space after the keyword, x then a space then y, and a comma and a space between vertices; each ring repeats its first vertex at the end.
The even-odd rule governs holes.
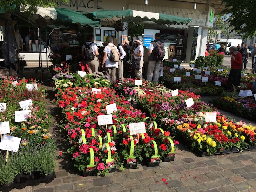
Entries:
POLYGON ((0 122, 9 122, 10 131, 6 135, 21 138, 17 152, 0 150, 0 189, 24 188, 53 180, 55 144, 48 130, 45 90, 35 80, 14 81, 5 77, 0 82, 1 107, 6 103, 6 109, 0 112, 0 122), (29 99, 32 105, 27 106, 30 112, 24 116, 26 120, 16 122, 15 112, 25 110, 19 102, 29 99), (47 175, 51 175, 50 178, 45 178, 47 175))

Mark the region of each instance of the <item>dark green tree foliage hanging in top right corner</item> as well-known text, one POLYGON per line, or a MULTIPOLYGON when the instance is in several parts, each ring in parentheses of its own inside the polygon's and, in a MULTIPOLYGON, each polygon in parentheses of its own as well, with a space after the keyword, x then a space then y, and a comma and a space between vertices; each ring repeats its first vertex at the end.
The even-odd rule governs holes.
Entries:
POLYGON ((256 35, 256 20, 254 13, 256 10, 256 3, 254 0, 230 1, 222 0, 225 9, 222 13, 231 13, 232 17, 229 19, 229 24, 233 26, 233 31, 242 35, 242 38, 256 35))

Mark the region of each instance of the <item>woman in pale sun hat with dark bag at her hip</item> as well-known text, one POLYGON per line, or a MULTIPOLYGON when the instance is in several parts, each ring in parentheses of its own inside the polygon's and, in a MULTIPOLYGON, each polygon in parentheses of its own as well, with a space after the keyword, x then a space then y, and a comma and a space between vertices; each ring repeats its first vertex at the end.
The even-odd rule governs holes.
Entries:
POLYGON ((134 56, 134 59, 137 60, 135 61, 133 59, 132 61, 132 65, 134 62, 138 62, 138 60, 140 60, 140 64, 138 68, 135 68, 135 76, 137 79, 141 79, 142 80, 142 67, 143 67, 143 64, 144 64, 144 61, 143 61, 143 56, 144 56, 144 47, 143 47, 143 38, 142 36, 138 36, 137 38, 133 37, 133 40, 136 42, 136 44, 138 45, 138 47, 134 50, 134 53, 133 53, 133 56, 134 56))

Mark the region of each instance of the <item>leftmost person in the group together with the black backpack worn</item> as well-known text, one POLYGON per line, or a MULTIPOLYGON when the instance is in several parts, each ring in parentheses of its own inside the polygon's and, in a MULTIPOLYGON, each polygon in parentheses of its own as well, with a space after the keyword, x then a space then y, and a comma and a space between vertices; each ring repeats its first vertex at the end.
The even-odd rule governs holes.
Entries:
POLYGON ((94 36, 93 34, 87 35, 87 42, 82 46, 82 56, 83 59, 86 61, 89 73, 98 72, 99 68, 99 59, 97 55, 98 46, 94 43, 94 36))

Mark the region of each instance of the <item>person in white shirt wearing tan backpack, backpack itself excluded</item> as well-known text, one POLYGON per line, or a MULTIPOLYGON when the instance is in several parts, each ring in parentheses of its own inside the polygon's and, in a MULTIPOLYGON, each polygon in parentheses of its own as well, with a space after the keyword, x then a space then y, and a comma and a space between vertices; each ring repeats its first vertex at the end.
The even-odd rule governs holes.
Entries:
POLYGON ((104 64, 105 64, 106 75, 109 77, 108 80, 112 82, 112 81, 115 81, 116 79, 116 67, 118 67, 118 62, 113 62, 109 60, 110 53, 111 53, 110 47, 112 47, 113 49, 117 49, 117 47, 113 44, 112 36, 108 36, 106 38, 106 43, 107 45, 103 50, 104 56, 102 61, 102 68, 104 68, 104 64))

